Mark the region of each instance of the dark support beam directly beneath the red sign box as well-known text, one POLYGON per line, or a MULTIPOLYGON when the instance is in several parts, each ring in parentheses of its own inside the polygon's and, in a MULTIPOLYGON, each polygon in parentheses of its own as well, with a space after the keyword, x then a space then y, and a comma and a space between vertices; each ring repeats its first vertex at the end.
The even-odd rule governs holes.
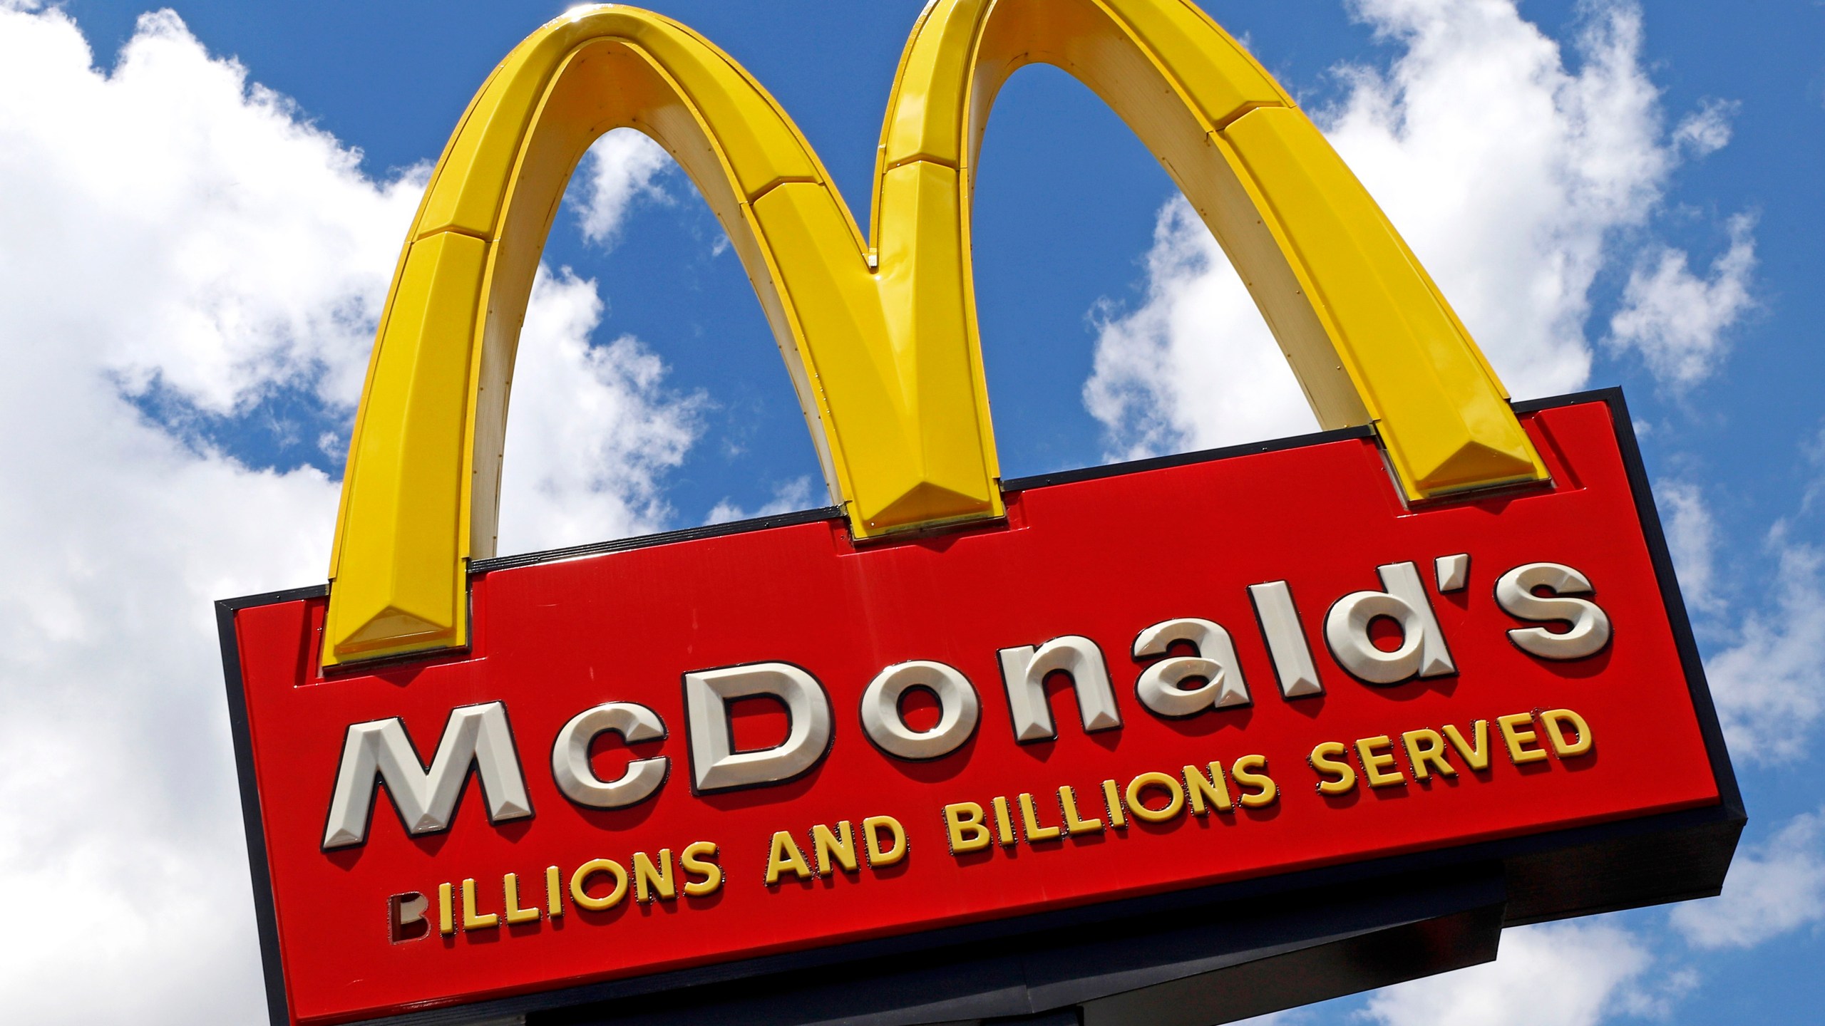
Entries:
POLYGON ((1181 896, 1055 933, 624 997, 531 1015, 527 1026, 911 1026, 1060 1013, 1084 1026, 1232 1022, 1487 962, 1502 907, 1495 865, 1208 904, 1181 896))

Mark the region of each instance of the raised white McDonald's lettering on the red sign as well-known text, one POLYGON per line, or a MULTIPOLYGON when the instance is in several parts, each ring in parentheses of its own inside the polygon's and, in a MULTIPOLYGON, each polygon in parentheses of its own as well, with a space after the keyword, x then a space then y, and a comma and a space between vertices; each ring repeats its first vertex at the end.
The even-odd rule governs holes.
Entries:
MULTIPOLYGON (((1436 593, 1467 590, 1471 560, 1473 553, 1436 557, 1436 593)), ((1374 573, 1380 577, 1380 590, 1356 590, 1327 602, 1318 633, 1325 639, 1336 670, 1358 686, 1382 688, 1456 675, 1451 643, 1438 624, 1433 593, 1418 566, 1392 562, 1378 566, 1374 573)), ((1537 560, 1500 573, 1486 601, 1528 624, 1506 630, 1515 648, 1535 659, 1575 661, 1591 659, 1610 644, 1610 615, 1584 597, 1593 592, 1590 577, 1579 570, 1537 560)), ((1299 701, 1323 696, 1318 657, 1301 630, 1290 582, 1252 584, 1248 595, 1254 624, 1259 628, 1261 657, 1274 666, 1279 685, 1276 697, 1299 701)), ((1133 705, 1150 716, 1183 719, 1245 708, 1256 701, 1237 657, 1237 641, 1217 623, 1194 615, 1164 619, 1141 628, 1133 643, 1124 646, 1139 666, 1133 705)), ((995 663, 1013 727, 1007 743, 1038 745, 1058 739, 1049 690, 1060 683, 1075 697, 1075 719, 1086 734, 1122 728, 1128 703, 1117 697, 1104 643, 1064 633, 1038 644, 998 648, 995 663)), ((756 661, 686 670, 683 681, 694 794, 790 783, 821 763, 838 743, 830 690, 805 666, 756 661), (772 703, 785 714, 785 736, 761 747, 737 745, 732 707, 743 701, 772 703)), ((637 681, 622 686, 650 690, 637 681)), ((860 734, 887 759, 942 759, 969 741, 982 719, 976 685, 962 670, 940 661, 892 663, 860 692, 860 734), (914 692, 923 692, 925 701, 934 705, 916 719, 907 708, 914 692)), ((434 752, 414 745, 398 717, 350 725, 327 800, 323 849, 367 843, 372 805, 381 794, 391 796, 407 834, 451 829, 456 800, 471 772, 480 778, 491 823, 531 818, 533 807, 518 759, 524 739, 515 738, 507 712, 506 699, 451 710, 434 752)), ((1507 732, 1506 719, 1502 723, 1507 732)), ((1555 736, 1562 730, 1560 719, 1549 717, 1546 725, 1555 736)), ((672 778, 670 756, 628 759, 617 778, 602 780, 595 770, 600 749, 604 743, 626 749, 666 736, 664 717, 650 705, 619 699, 577 712, 551 739, 538 738, 538 745, 542 752, 549 752, 544 765, 569 801, 588 809, 628 809, 652 800, 666 785, 672 778)), ((1507 738, 1513 750, 1513 739, 1507 738)), ((1453 741, 1464 747, 1462 736, 1453 734, 1453 741)), ((1436 759, 1444 741, 1431 734, 1429 745, 1431 758, 1436 759)), ((1424 769, 1418 754, 1414 761, 1424 769)), ((1361 752, 1361 763, 1374 783, 1376 759, 1361 752)), ((1069 801, 1062 794, 1060 800, 1069 801)), ((1002 814, 1006 816, 1006 809, 1002 814)), ((1115 805, 1110 805, 1110 814, 1115 814, 1115 805)))

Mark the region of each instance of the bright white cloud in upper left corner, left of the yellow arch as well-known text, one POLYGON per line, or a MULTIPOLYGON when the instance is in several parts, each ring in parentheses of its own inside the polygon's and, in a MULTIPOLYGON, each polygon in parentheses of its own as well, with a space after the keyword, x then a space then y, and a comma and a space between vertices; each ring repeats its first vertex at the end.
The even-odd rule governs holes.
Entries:
POLYGON ((210 413, 276 385, 350 403, 423 172, 360 153, 208 60, 170 11, 100 73, 60 13, 0 13, 0 272, 60 303, 51 336, 106 340, 135 391, 210 413), (31 241, 33 245, 26 245, 31 241))

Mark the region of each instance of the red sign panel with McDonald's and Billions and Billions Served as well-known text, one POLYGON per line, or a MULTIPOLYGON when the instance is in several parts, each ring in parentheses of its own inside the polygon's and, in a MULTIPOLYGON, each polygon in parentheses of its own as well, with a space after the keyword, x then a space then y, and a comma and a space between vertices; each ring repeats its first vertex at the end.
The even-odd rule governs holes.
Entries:
POLYGON ((1719 805, 1633 442, 1604 400, 1522 424, 1551 486, 1425 508, 1336 433, 923 539, 496 560, 414 663, 323 674, 321 597, 224 604, 288 1013, 1719 805))

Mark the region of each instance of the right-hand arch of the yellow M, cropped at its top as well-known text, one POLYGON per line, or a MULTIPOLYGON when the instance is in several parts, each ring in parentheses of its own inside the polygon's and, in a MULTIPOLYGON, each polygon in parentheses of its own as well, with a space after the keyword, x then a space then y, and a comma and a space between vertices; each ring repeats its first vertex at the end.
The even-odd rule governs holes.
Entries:
MULTIPOLYGON (((960 267, 969 290, 975 152, 995 93, 1033 62, 1080 79, 1141 135, 1248 283, 1319 422, 1376 424, 1409 498, 1546 476, 1495 372, 1374 199, 1279 84, 1184 0, 933 4, 883 130, 880 237, 912 203, 898 181, 909 166, 956 162, 956 228, 933 225, 918 248, 960 267), (953 53, 965 38, 971 60, 953 53)), ((973 318, 965 336, 975 347, 973 318)))

